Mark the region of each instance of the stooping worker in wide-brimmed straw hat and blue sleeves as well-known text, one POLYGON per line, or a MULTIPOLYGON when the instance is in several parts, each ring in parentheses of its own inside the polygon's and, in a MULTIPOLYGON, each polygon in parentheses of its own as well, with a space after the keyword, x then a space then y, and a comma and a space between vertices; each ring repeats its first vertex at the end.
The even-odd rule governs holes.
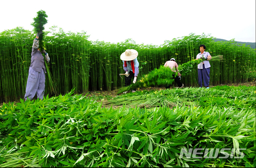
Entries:
MULTIPOLYGON (((120 59, 123 61, 123 69, 125 71, 125 86, 131 85, 132 78, 134 78, 133 83, 136 83, 137 81, 137 76, 139 74, 139 62, 137 60, 137 57, 138 52, 134 49, 127 49, 120 56, 120 59)), ((132 92, 135 91, 136 89, 134 89, 132 92)))

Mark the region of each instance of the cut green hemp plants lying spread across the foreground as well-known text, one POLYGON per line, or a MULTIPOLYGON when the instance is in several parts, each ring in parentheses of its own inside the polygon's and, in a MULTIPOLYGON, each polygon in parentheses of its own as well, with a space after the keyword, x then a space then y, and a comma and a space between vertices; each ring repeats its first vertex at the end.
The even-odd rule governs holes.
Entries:
POLYGON ((256 166, 255 87, 73 92, 0 107, 0 167, 256 166))

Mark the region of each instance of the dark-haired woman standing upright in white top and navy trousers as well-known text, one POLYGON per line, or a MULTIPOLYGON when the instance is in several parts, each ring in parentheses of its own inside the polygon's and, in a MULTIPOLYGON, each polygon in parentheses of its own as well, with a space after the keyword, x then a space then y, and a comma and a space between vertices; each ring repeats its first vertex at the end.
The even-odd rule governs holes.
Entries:
POLYGON ((208 52, 205 52, 206 46, 204 44, 199 46, 200 53, 197 55, 197 59, 203 59, 205 61, 197 65, 198 69, 198 84, 200 87, 204 86, 208 89, 210 82, 210 63, 211 56, 208 52))

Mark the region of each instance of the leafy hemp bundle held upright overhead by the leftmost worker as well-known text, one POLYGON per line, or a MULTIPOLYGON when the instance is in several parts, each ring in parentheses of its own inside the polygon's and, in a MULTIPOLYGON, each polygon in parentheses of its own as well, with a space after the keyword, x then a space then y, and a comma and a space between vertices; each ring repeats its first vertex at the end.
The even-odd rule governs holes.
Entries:
MULTIPOLYGON (((31 25, 34 27, 33 31, 35 33, 45 30, 44 25, 47 23, 46 17, 48 16, 45 11, 40 10, 37 12, 37 16, 33 18, 34 22, 31 23, 31 25)), ((39 49, 45 48, 43 43, 44 38, 45 38, 45 33, 42 32, 42 34, 39 36, 39 49)))

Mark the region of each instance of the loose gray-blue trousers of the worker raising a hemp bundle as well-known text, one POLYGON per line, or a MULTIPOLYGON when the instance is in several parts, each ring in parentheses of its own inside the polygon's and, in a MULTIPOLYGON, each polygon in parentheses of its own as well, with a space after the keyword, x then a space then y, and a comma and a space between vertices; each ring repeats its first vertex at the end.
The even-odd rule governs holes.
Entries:
POLYGON ((37 99, 42 100, 45 93, 45 81, 46 75, 44 69, 41 69, 41 72, 35 71, 29 67, 29 76, 26 86, 25 101, 27 99, 32 100, 37 95, 37 99))

